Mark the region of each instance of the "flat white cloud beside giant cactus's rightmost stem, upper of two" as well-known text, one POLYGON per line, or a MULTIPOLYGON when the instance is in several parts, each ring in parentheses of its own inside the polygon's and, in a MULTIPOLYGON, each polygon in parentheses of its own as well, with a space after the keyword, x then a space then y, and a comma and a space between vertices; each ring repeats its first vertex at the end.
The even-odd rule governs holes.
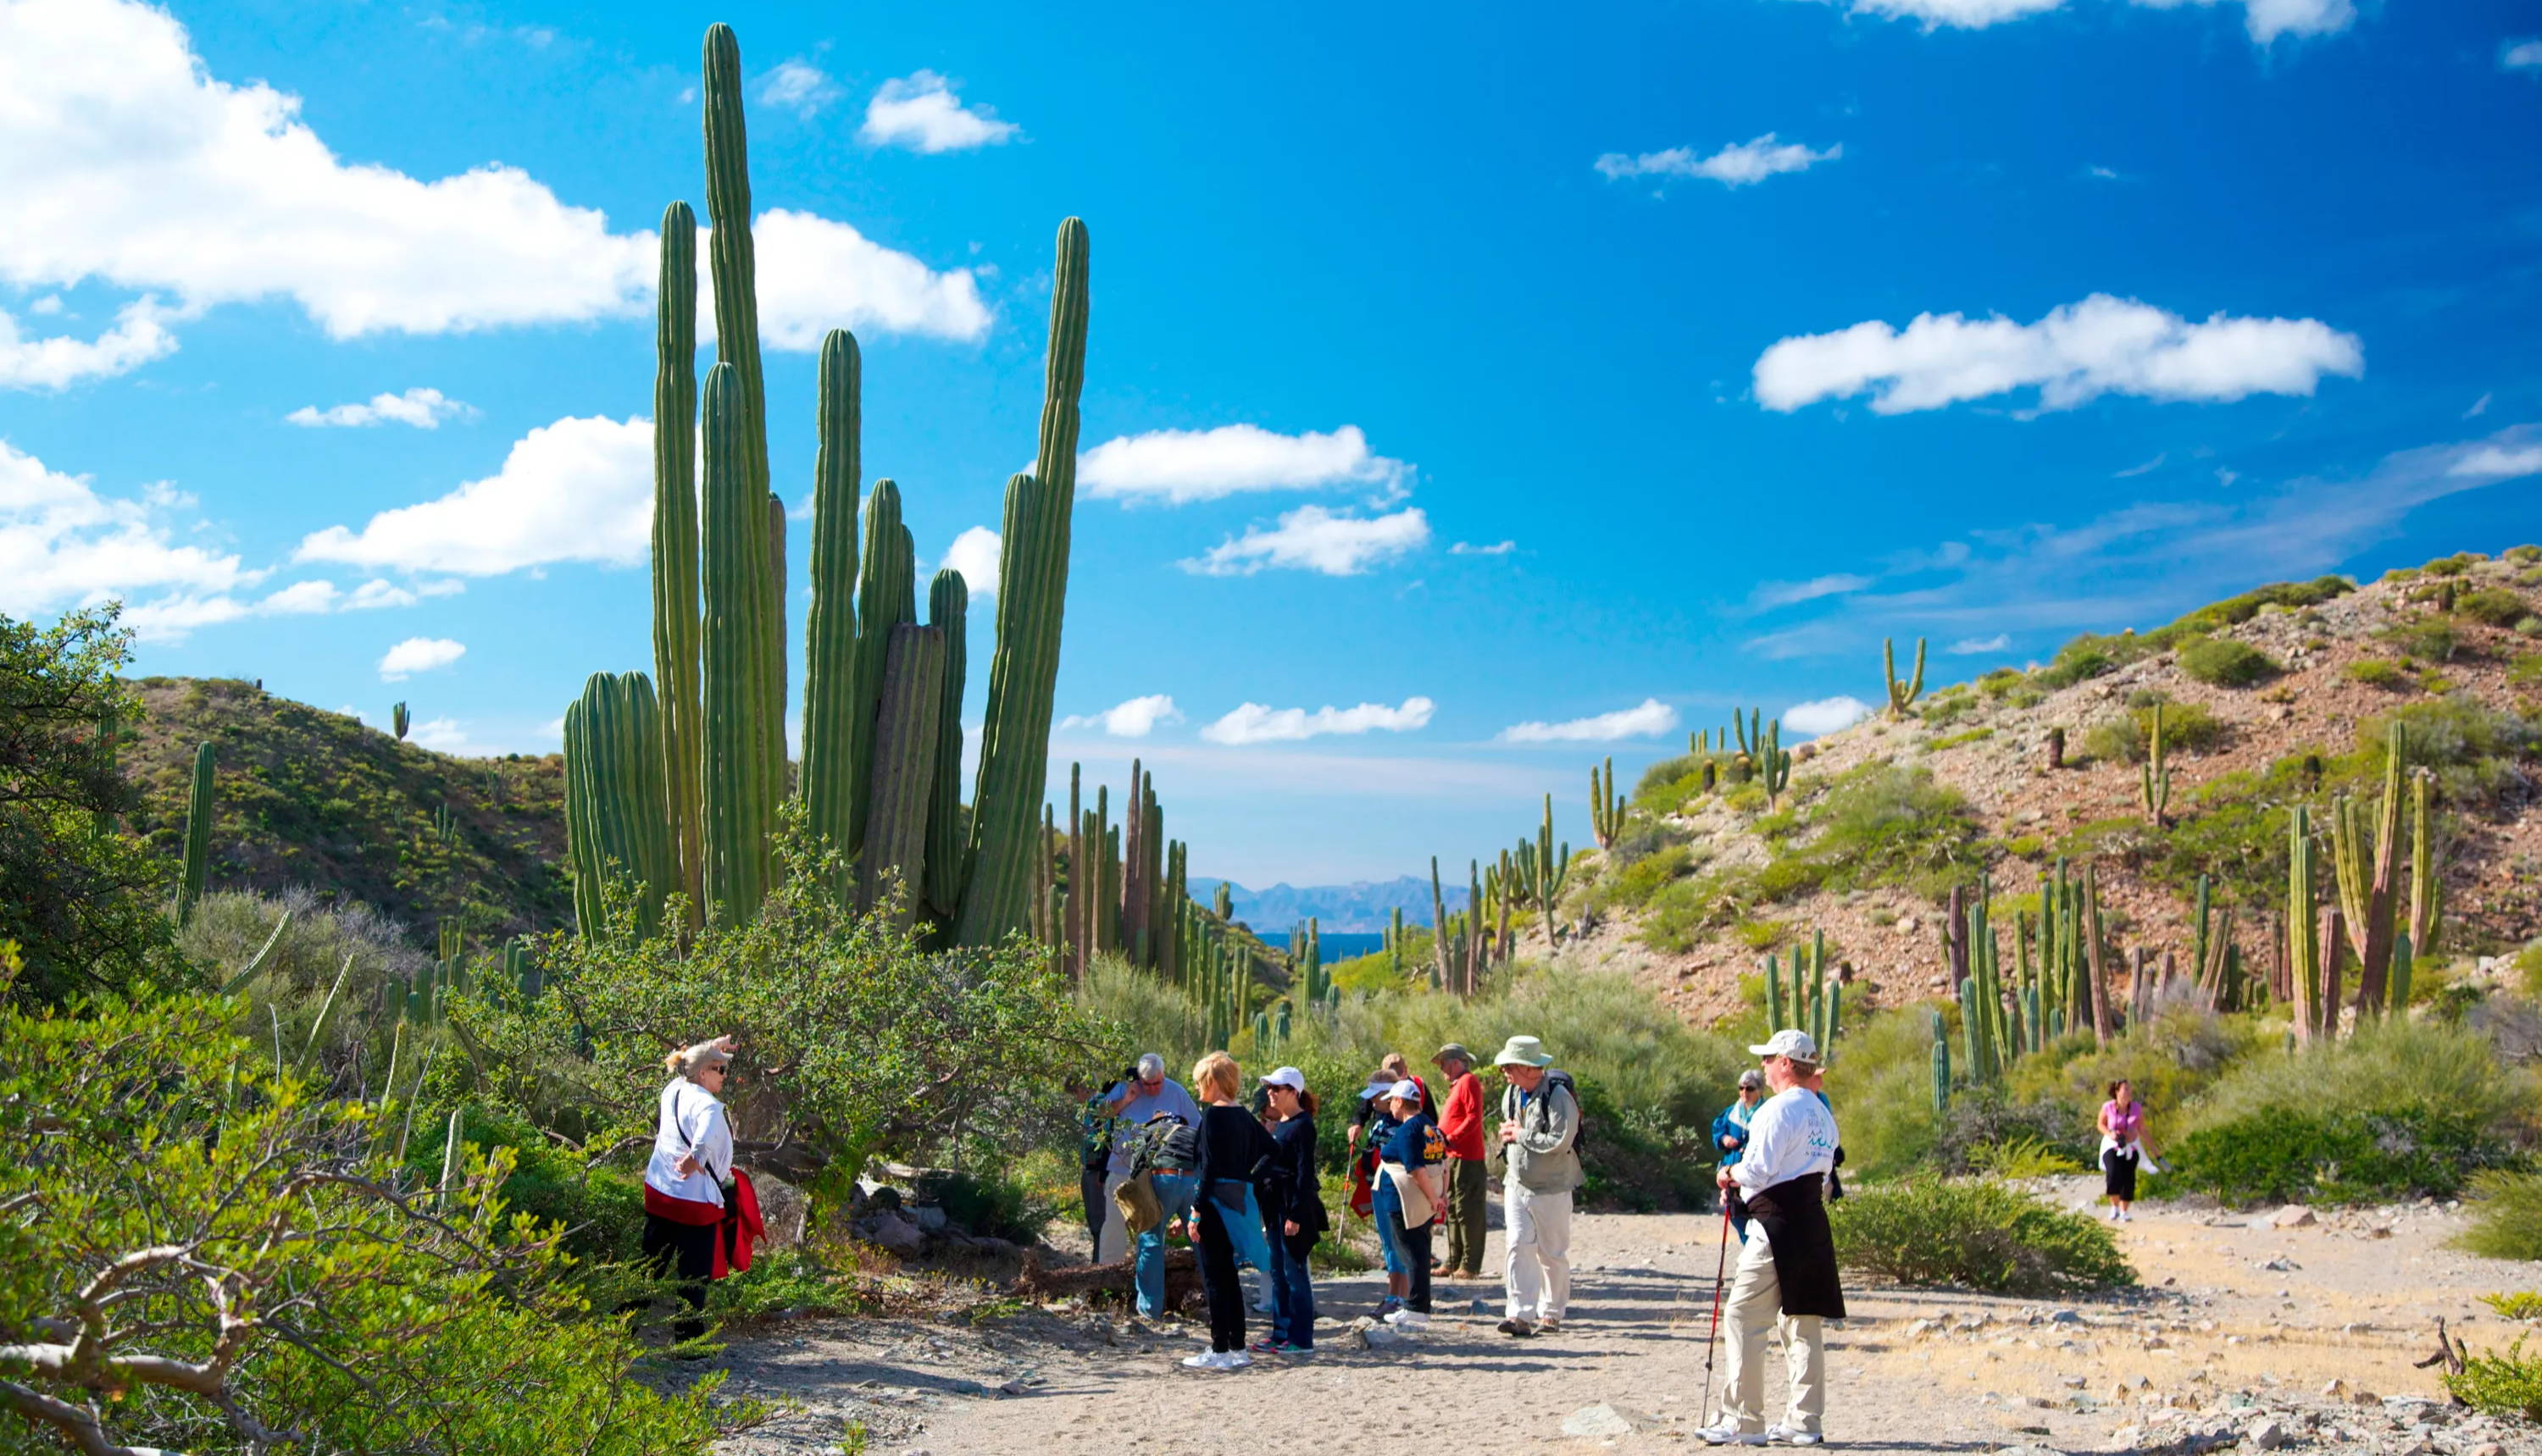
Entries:
POLYGON ((1398 490, 1408 475, 1411 465, 1370 452, 1357 424, 1329 435, 1276 435, 1261 424, 1149 429, 1078 455, 1078 488, 1088 495, 1167 506, 1243 490, 1398 490))

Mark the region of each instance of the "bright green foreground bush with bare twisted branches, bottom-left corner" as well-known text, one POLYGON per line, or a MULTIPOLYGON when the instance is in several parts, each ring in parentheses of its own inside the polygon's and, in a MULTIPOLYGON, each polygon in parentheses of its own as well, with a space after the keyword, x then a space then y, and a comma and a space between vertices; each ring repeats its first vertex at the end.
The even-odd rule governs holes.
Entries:
POLYGON ((704 1456, 752 1418, 630 1377, 554 1225, 493 1194, 508 1149, 404 1176, 234 1009, 0 1011, 0 1446, 704 1456))

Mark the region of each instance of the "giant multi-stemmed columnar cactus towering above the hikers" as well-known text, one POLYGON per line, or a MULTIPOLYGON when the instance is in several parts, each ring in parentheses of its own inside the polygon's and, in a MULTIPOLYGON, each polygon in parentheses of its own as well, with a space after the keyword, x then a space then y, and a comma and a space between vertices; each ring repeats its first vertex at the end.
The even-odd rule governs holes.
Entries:
MULTIPOLYGON (((613 864, 658 905, 679 889, 689 925, 747 920, 770 889, 770 833, 785 795, 785 511, 768 478, 750 160, 740 43, 714 25, 704 46, 709 267, 717 363, 697 389, 697 216, 671 203, 661 226, 653 381, 653 671, 661 684, 653 767, 567 767, 569 816, 587 826, 658 823, 669 846, 638 864, 608 833, 574 856, 580 882, 613 864), (702 435, 702 440, 699 440, 702 435), (699 483, 691 460, 704 460, 699 483), (651 788, 638 788, 651 778, 651 788), (620 795, 574 806, 572 795, 620 795)), ((938 572, 918 625, 915 546, 900 490, 877 480, 864 508, 862 361, 846 330, 821 340, 813 465, 811 615, 806 620, 798 793, 808 826, 846 869, 862 907, 902 889, 905 915, 986 945, 1047 935, 1050 839, 1042 775, 1057 681, 1068 536, 1075 508, 1078 391, 1085 376, 1085 226, 1060 226, 1050 353, 1035 470, 1007 483, 996 650, 971 813, 961 806, 961 701, 969 590, 938 572)), ((595 676, 602 681, 608 673, 595 676)), ((641 673, 628 678, 646 681, 641 673)), ((623 691, 623 689, 620 689, 623 691)), ((590 696, 590 694, 587 694, 590 696)), ((651 689, 648 689, 651 696, 651 689)), ((595 742, 569 734, 567 757, 595 742)), ((651 851, 653 831, 643 849, 651 851)), ((585 927, 592 920, 585 917, 585 927)), ((1154 935, 1154 930, 1152 930, 1154 935)))

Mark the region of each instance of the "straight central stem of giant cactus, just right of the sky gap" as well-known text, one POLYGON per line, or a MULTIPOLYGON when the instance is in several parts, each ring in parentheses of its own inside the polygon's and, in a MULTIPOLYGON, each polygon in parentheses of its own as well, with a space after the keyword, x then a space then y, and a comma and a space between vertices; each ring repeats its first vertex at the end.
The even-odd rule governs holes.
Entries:
POLYGON ((857 493, 862 468, 864 358, 857 338, 834 328, 821 338, 813 419, 821 447, 811 488, 811 617, 803 628, 803 818, 841 856, 854 854, 857 739, 872 734, 880 671, 867 678, 857 620, 857 493))

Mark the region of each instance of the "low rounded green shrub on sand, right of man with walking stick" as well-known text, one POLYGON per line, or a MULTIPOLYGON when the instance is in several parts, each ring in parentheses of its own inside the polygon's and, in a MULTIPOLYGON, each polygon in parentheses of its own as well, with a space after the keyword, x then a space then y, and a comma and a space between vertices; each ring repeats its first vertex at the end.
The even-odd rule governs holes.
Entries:
POLYGON ((2100 1220, 1990 1179, 1858 1189, 1830 1222, 1838 1263, 1873 1278, 2021 1296, 2135 1283, 2100 1220))

